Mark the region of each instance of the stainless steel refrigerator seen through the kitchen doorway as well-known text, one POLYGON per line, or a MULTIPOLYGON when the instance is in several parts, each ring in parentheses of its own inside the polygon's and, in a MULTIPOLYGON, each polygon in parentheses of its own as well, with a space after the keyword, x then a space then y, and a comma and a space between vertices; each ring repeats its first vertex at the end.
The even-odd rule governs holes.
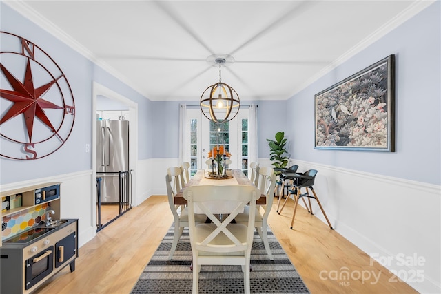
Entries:
POLYGON ((96 176, 101 177, 101 203, 119 202, 119 171, 129 170, 129 122, 96 121, 96 176))

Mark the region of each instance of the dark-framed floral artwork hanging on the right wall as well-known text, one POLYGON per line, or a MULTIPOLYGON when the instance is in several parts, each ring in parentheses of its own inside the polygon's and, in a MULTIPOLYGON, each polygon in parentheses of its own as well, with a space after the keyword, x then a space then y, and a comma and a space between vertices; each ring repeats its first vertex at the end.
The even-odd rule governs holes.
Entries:
POLYGON ((395 151, 395 56, 315 95, 314 149, 395 151))

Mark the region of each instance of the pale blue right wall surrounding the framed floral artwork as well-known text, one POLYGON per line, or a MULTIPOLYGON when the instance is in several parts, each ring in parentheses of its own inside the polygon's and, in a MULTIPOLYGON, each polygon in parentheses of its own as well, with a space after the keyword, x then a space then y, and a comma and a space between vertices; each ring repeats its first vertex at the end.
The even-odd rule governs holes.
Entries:
POLYGON ((288 101, 288 111, 296 113, 291 158, 441 184, 440 5, 433 3, 288 101), (396 55, 396 152, 314 149, 314 95, 390 54, 396 55))

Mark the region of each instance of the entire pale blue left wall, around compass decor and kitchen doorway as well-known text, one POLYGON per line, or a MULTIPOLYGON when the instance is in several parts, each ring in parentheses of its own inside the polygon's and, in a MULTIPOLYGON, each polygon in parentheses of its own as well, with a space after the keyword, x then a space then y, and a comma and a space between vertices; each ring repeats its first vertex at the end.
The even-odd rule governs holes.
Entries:
MULTIPOLYGON (((139 160, 152 158, 152 102, 119 81, 101 67, 59 41, 35 23, 0 3, 1 30, 17 34, 42 48, 61 67, 68 78, 75 101, 75 121, 70 137, 54 154, 38 160, 0 158, 1 184, 44 178, 92 169, 92 81, 118 92, 139 107, 139 160)), ((6 109, 1 109, 1 113, 6 109)), ((4 150, 3 150, 4 151, 4 150)))

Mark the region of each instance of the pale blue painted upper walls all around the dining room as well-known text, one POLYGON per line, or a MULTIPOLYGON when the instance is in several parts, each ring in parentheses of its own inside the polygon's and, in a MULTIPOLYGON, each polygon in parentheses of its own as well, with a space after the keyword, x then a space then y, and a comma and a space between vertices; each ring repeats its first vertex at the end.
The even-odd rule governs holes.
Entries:
MULTIPOLYGON (((52 56, 68 76, 76 103, 67 143, 40 160, 1 158, 1 184, 91 169, 84 146, 92 142, 92 81, 138 103, 139 160, 178 158, 178 101, 148 100, 4 3, 1 30, 30 39, 52 56)), ((437 1, 289 101, 244 101, 258 104, 258 157, 269 157, 266 138, 283 131, 291 158, 440 185, 440 63, 437 1), (396 54, 396 152, 314 149, 314 95, 389 54, 396 54)))

